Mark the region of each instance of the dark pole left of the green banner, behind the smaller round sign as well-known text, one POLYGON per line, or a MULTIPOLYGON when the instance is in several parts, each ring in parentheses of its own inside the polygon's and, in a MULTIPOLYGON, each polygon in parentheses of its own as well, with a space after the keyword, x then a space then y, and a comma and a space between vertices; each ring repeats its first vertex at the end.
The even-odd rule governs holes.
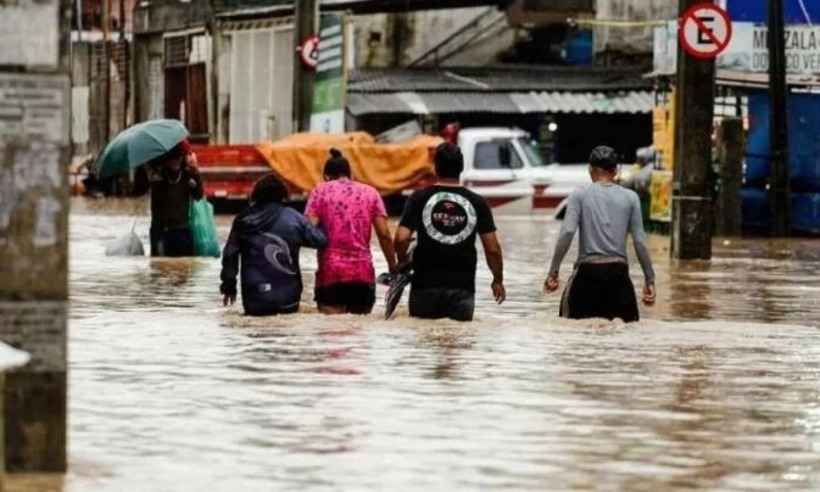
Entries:
POLYGON ((313 71, 302 63, 298 47, 318 30, 319 0, 297 0, 293 29, 293 45, 297 47, 293 65, 293 129, 310 129, 310 111, 313 105, 313 71))

